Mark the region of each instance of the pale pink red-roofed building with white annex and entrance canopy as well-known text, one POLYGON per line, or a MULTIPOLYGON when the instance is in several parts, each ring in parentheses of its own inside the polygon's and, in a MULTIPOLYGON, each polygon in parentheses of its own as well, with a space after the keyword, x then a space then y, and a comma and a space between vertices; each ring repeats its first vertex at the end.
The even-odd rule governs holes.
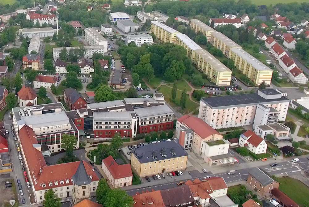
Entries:
POLYGON ((220 165, 220 159, 233 157, 228 153, 229 143, 223 136, 195 116, 184 115, 177 119, 175 136, 181 146, 191 149, 209 165, 220 165))

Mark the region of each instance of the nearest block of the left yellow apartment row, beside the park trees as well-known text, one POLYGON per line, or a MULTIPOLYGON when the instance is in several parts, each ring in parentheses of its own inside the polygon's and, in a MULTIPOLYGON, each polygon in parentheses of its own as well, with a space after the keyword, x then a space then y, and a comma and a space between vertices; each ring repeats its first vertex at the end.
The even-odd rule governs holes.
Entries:
POLYGON ((229 68, 204 49, 197 49, 194 52, 193 64, 198 70, 206 74, 218 86, 230 85, 232 71, 229 68))

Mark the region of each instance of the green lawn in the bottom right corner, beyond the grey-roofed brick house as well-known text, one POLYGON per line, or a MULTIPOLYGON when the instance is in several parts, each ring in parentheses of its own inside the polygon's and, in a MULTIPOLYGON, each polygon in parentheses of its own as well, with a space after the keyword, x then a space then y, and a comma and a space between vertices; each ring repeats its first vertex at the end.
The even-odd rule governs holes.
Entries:
POLYGON ((293 201, 295 201, 298 205, 302 207, 307 207, 309 201, 309 188, 294 178, 290 177, 280 177, 276 179, 280 185, 279 190, 284 192, 287 196, 289 196, 293 201), (303 192, 303 193, 300 193, 303 192))

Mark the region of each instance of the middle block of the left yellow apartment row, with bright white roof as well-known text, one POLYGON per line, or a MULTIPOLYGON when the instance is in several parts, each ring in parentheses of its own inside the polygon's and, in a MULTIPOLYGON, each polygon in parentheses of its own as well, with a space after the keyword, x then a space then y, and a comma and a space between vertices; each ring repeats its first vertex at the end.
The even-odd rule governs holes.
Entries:
POLYGON ((194 60, 195 58, 195 50, 197 49, 202 49, 198 44, 196 44, 193 40, 191 40, 187 35, 178 33, 176 34, 176 43, 187 51, 187 56, 191 59, 194 60))

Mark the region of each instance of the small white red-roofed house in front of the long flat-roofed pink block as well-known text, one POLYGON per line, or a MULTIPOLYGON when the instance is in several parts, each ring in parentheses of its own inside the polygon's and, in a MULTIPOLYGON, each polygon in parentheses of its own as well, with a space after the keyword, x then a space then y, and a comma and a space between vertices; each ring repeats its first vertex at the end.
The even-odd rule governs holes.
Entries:
POLYGON ((266 153, 267 150, 267 144, 264 139, 251 130, 248 130, 239 136, 238 145, 241 147, 247 147, 247 149, 254 154, 266 153))

